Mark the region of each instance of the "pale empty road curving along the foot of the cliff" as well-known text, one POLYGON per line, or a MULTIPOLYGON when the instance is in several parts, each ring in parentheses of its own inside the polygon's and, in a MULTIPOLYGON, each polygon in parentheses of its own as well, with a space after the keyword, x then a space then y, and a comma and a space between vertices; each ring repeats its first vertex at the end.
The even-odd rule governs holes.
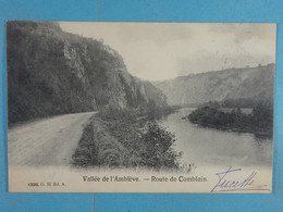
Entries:
POLYGON ((9 164, 70 165, 84 124, 93 114, 60 115, 9 129, 9 164))

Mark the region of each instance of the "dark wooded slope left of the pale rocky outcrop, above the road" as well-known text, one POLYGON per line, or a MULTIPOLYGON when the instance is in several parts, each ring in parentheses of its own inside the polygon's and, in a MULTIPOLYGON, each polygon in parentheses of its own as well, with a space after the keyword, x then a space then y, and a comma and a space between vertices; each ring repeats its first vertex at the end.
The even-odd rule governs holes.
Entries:
POLYGON ((8 22, 9 124, 90 111, 91 95, 63 53, 64 34, 53 23, 8 22))

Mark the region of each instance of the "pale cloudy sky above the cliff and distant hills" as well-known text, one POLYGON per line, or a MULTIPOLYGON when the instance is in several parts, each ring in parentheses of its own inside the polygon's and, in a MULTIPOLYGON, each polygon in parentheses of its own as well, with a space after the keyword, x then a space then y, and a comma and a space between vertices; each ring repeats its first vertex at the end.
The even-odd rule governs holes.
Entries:
POLYGON ((275 24, 60 22, 103 40, 147 80, 275 62, 275 24))

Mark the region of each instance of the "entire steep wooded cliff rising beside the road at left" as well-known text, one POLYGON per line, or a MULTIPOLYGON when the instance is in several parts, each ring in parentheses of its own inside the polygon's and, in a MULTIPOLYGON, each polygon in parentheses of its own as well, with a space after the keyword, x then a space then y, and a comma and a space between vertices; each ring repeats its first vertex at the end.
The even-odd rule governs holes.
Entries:
POLYGON ((9 123, 111 105, 138 108, 167 98, 132 76, 102 41, 62 32, 51 22, 8 22, 9 123))

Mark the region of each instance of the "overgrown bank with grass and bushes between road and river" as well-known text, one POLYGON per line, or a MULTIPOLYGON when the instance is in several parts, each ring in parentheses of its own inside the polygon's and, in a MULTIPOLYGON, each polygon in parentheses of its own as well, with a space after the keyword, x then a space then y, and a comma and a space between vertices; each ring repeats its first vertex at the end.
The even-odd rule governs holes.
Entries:
POLYGON ((174 135, 134 110, 104 110, 85 125, 75 166, 180 169, 174 135))

